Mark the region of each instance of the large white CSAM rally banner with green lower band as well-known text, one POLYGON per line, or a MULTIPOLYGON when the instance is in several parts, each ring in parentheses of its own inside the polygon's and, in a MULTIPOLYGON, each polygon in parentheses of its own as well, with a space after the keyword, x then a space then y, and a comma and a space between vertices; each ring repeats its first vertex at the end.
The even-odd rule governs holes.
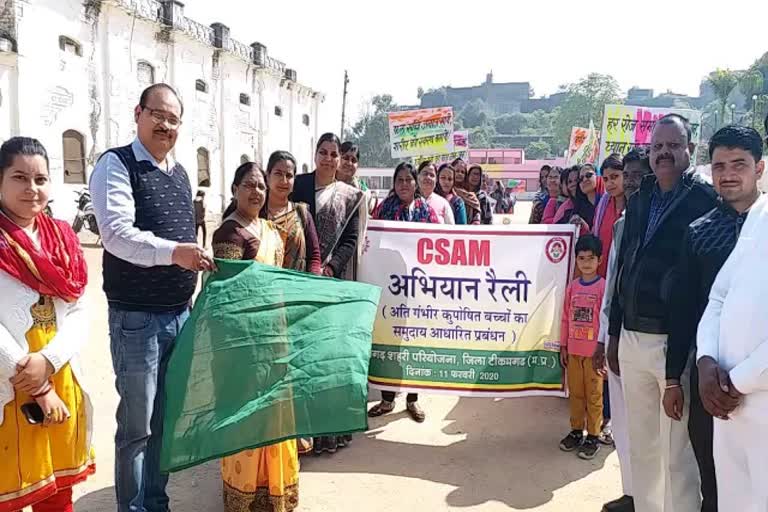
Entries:
POLYGON ((560 316, 574 239, 565 225, 371 221, 358 276, 382 287, 369 383, 563 396, 560 316))

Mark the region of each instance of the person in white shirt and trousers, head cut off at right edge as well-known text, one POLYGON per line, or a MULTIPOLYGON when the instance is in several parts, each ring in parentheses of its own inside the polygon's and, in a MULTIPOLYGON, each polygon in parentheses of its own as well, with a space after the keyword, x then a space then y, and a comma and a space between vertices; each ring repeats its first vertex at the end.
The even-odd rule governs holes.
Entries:
POLYGON ((768 510, 766 263, 768 199, 763 196, 712 286, 697 334, 702 402, 715 416, 718 508, 726 512, 768 510))

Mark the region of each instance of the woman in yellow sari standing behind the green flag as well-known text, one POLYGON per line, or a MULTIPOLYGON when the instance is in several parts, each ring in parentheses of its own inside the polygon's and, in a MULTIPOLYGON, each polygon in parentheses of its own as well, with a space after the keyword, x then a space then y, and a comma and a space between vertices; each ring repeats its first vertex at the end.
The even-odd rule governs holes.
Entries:
MULTIPOLYGON (((283 264, 280 232, 259 219, 266 201, 266 176, 254 163, 241 165, 232 184, 234 200, 213 234, 217 258, 283 264)), ((246 450, 222 461, 226 512, 289 512, 299 503, 299 456, 296 441, 246 450)))

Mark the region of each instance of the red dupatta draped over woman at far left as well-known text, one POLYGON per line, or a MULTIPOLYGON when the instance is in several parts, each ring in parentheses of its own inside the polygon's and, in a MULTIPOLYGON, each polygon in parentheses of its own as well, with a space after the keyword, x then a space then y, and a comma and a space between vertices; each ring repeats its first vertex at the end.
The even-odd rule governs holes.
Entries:
POLYGON ((76 301, 88 282, 77 235, 44 213, 35 218, 35 226, 39 248, 24 229, 0 213, 0 270, 40 295, 76 301))

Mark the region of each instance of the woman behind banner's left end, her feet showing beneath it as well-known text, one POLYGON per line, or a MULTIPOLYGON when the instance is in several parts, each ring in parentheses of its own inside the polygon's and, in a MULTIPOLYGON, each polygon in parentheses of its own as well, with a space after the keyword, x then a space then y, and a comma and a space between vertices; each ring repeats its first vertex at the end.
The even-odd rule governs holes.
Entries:
MULTIPOLYGON (((392 178, 394 188, 390 190, 384 202, 376 208, 373 218, 439 224, 440 221, 435 210, 421 197, 419 189, 416 187, 417 180, 416 171, 411 164, 407 162, 399 164, 392 178)), ((395 409, 394 391, 382 391, 381 398, 381 402, 368 411, 368 416, 375 418, 390 413, 395 409)), ((408 393, 406 410, 414 421, 422 423, 426 419, 426 414, 419 405, 418 400, 418 394, 408 393)))

